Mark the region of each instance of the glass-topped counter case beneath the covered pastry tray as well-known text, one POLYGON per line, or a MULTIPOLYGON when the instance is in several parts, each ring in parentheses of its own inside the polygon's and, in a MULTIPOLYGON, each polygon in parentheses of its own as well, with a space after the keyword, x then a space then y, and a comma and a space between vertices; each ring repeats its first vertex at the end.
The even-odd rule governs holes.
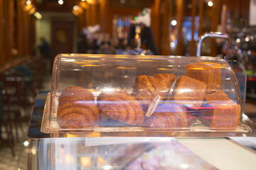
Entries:
MULTIPOLYGON (((216 137, 213 132, 212 137, 206 132, 200 133, 203 137, 165 137, 161 132, 146 137, 129 137, 129 132, 119 133, 125 133, 125 137, 104 137, 100 132, 82 132, 84 137, 73 132, 62 137, 42 133, 48 92, 41 91, 36 99, 28 132, 21 142, 19 170, 255 169, 256 137, 247 137, 248 133, 241 137, 216 137)), ((245 115, 242 118, 255 134, 255 124, 245 115)))

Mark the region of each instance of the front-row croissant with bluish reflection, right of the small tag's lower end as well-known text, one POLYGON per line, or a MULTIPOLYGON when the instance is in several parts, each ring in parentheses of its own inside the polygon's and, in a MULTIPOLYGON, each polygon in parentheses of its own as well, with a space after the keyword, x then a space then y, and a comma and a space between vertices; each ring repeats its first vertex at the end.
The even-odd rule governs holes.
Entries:
POLYGON ((177 129, 188 127, 188 111, 179 104, 164 104, 158 106, 154 113, 144 120, 146 128, 177 129))

